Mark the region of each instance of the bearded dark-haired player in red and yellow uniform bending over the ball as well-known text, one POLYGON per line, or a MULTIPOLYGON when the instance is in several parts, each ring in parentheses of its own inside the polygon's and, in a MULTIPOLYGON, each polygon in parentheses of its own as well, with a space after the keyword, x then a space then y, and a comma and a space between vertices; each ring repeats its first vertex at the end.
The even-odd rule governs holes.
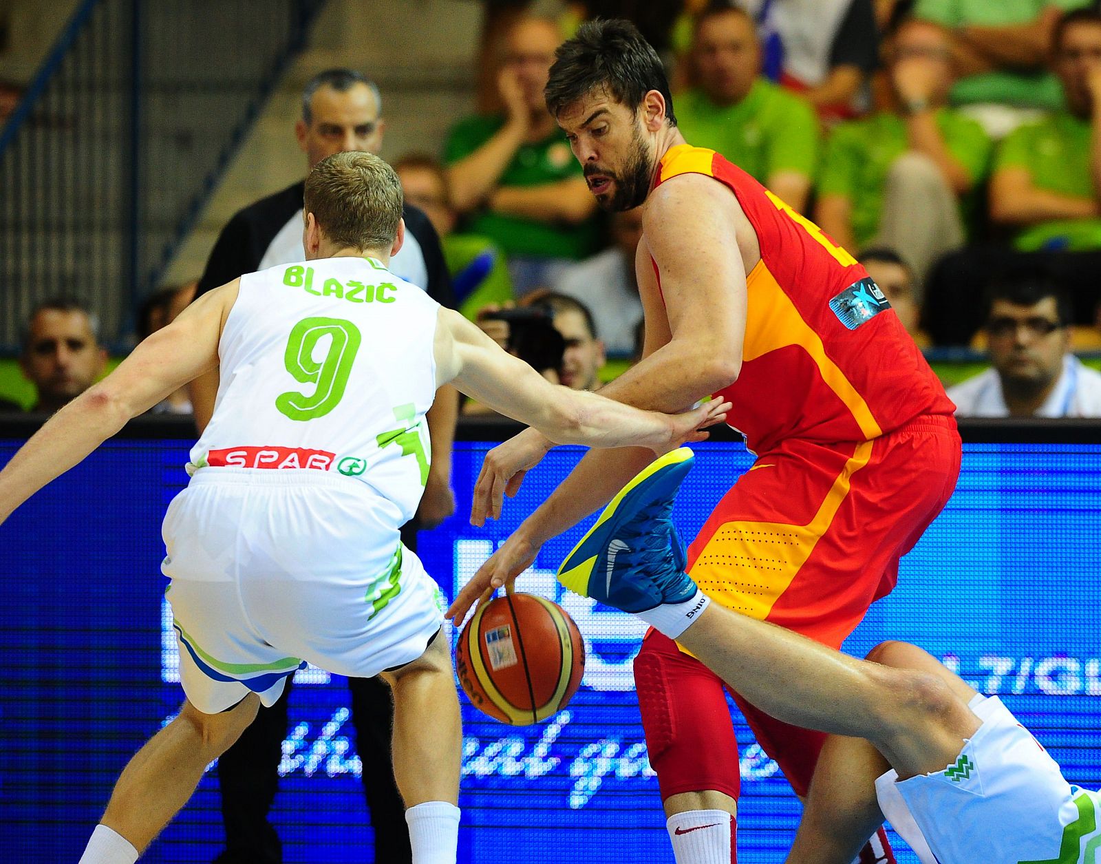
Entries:
MULTIPOLYGON (((956 485, 952 403, 849 252, 720 154, 685 141, 661 62, 631 24, 582 25, 558 50, 546 97, 597 201, 643 207, 643 359, 602 392, 665 411, 718 395, 757 454, 691 544, 688 572, 724 606, 840 647, 892 590, 900 557, 956 485)), ((502 495, 549 447, 525 430, 491 451, 471 520, 497 517, 502 495)), ((461 620, 652 458, 587 454, 449 614, 461 620)), ((733 862, 740 778, 722 682, 656 631, 634 673, 678 864, 733 862)), ((822 736, 734 698, 805 797, 822 736)), ((882 833, 860 858, 893 860, 882 833)))

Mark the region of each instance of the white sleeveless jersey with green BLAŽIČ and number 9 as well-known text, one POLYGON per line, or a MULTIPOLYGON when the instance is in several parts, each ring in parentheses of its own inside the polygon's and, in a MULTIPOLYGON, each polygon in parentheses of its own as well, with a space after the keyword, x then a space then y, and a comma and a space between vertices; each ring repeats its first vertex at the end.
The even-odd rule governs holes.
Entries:
POLYGON ((341 474, 412 518, 428 475, 439 304, 371 258, 241 277, 218 354, 214 417, 188 473, 341 474))

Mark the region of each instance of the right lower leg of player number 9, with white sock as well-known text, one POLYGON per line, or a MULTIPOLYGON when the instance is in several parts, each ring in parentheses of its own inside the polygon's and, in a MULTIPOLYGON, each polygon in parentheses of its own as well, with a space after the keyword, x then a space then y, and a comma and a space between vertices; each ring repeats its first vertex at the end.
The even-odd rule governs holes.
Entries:
POLYGON ((394 779, 405 801, 413 864, 454 864, 462 723, 447 638, 383 678, 394 691, 394 779))

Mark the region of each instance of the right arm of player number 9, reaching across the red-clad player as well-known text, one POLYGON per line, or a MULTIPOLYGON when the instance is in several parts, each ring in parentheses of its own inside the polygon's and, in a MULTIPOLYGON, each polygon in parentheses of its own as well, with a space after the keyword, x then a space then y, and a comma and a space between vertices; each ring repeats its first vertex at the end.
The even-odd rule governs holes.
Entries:
POLYGON ((436 327, 436 368, 437 384, 450 381, 494 411, 538 429, 556 444, 671 450, 705 440, 702 428, 721 422, 729 408, 708 403, 671 415, 552 385, 447 309, 440 309, 436 327))

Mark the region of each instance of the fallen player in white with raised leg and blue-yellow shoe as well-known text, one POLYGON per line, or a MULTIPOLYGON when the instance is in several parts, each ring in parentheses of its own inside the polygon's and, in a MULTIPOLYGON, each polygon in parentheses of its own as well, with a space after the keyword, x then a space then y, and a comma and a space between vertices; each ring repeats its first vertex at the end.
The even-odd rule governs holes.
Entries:
POLYGON ((711 603, 669 520, 691 458, 632 479, 558 580, 675 639, 771 716, 832 733, 788 864, 848 864, 884 817, 922 864, 1101 862, 1101 793, 1067 782, 996 696, 913 645, 866 662, 711 603))

